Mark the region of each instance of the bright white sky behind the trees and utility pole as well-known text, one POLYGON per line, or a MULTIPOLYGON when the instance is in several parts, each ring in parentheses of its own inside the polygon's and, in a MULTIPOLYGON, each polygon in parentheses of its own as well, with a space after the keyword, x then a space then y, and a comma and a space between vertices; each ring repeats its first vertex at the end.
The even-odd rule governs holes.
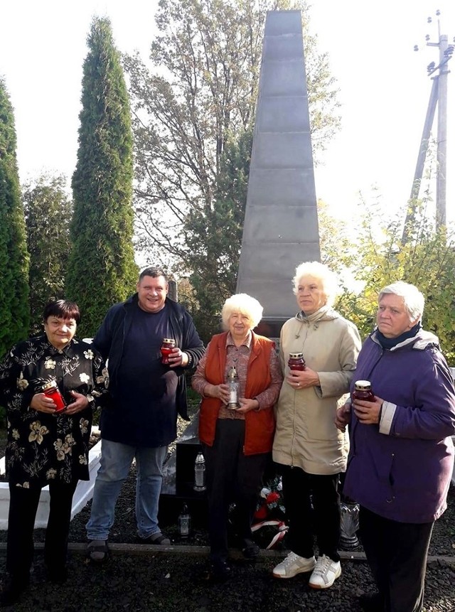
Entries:
MULTIPOLYGON (((156 0, 15 0, 1 6, 0 75, 15 109, 21 180, 43 170, 70 177, 77 152, 85 40, 94 14, 111 18, 121 51, 146 57, 156 0)), ((409 197, 437 50, 429 33, 455 36, 453 0, 314 0, 311 30, 331 58, 340 87, 343 129, 316 168, 316 193, 337 215, 350 214, 372 186, 391 212, 409 197), (427 17, 434 23, 428 25, 427 17), (414 44, 422 49, 414 53, 414 44)), ((449 67, 449 220, 455 220, 455 59, 449 67)))

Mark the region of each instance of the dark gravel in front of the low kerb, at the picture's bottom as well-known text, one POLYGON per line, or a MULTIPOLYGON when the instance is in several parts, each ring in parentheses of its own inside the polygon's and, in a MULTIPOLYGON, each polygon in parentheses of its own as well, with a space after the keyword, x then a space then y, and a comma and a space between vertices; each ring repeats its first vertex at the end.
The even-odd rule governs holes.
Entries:
MULTIPOLYGON (((38 557, 38 556, 37 556, 38 557)), ((44 582, 39 564, 31 589, 16 611, 149 611, 164 612, 356 612, 356 597, 371 588, 364 563, 344 562, 340 579, 326 591, 309 589, 308 574, 286 581, 273 579, 272 559, 256 564, 234 562, 225 584, 203 579, 205 561, 192 554, 115 554, 104 566, 69 561, 71 579, 64 586, 44 582)), ((426 612, 454 610, 455 574, 447 565, 428 568, 426 612)))

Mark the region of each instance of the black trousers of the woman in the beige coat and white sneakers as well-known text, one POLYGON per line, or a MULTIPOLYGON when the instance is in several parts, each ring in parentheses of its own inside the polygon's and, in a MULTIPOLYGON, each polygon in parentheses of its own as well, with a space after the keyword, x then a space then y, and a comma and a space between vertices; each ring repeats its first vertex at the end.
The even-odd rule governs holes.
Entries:
POLYGON ((289 524, 287 542, 292 552, 307 559, 319 555, 339 561, 340 506, 338 474, 319 476, 301 468, 277 464, 282 474, 284 505, 289 524))

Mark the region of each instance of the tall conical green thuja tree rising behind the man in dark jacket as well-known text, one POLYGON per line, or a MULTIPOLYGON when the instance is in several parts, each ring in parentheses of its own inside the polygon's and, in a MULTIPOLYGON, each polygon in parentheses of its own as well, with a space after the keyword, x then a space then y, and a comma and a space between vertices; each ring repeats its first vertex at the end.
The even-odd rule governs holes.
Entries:
POLYGON ((95 18, 82 77, 79 149, 66 293, 92 335, 109 306, 134 290, 132 128, 120 56, 107 18, 95 18))

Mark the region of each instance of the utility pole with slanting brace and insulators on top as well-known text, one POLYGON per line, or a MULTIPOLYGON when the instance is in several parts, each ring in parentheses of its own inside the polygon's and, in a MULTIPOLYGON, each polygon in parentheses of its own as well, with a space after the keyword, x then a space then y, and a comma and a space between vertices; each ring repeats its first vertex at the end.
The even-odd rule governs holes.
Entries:
MULTIPOLYGON (((439 21, 440 11, 436 11, 436 15, 438 18, 438 42, 430 42, 429 34, 427 34, 425 40, 427 41, 428 47, 439 48, 439 63, 438 65, 435 65, 435 63, 432 62, 427 66, 428 75, 432 78, 433 83, 429 96, 427 116, 425 117, 422 138, 420 140, 419 154, 417 156, 417 163, 414 171, 414 180, 412 181, 410 200, 408 203, 405 227, 402 235, 402 245, 405 245, 409 240, 410 228, 412 227, 412 222, 414 222, 417 212, 417 198, 419 197, 420 185, 422 183, 424 164, 425 159, 427 158, 429 139, 434 123, 436 107, 438 109, 436 228, 439 230, 439 228, 446 225, 447 75, 450 72, 450 70, 448 70, 447 63, 454 53, 454 45, 449 45, 449 39, 446 34, 441 34, 441 24, 439 21)), ((427 23, 432 23, 432 21, 432 17, 427 19, 427 23)), ((414 51, 418 50, 418 45, 414 45, 414 51)))

